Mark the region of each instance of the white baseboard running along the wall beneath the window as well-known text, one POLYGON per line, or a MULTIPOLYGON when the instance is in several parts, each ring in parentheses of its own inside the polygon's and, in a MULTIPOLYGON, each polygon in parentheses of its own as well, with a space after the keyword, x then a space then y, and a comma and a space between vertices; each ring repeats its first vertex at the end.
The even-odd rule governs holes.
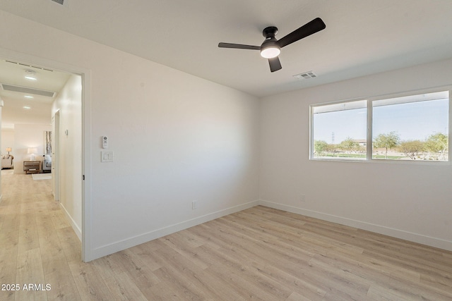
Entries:
POLYGON ((332 214, 325 214, 318 211, 312 211, 308 209, 302 209, 297 207, 288 206, 285 204, 279 204, 274 202, 268 202, 265 200, 259 200, 258 204, 274 209, 280 209, 283 211, 292 212, 295 214, 302 214, 304 216, 314 217, 316 219, 322 219, 323 221, 331 221, 333 223, 340 223, 341 225, 359 228, 366 231, 371 231, 383 235, 392 236, 393 238, 400 238, 403 240, 410 240, 422 245, 429 245, 431 247, 439 247, 443 250, 452 251, 452 241, 443 240, 441 238, 434 238, 427 235, 412 233, 395 228, 389 228, 386 226, 375 225, 373 223, 366 223, 364 221, 356 221, 354 219, 346 219, 341 216, 335 216, 332 214))

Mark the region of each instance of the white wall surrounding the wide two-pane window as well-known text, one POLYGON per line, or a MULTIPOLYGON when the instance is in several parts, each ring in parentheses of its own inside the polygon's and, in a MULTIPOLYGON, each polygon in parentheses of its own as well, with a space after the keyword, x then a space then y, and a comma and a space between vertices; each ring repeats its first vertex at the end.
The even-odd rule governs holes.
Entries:
POLYGON ((262 204, 452 250, 451 164, 309 161, 310 104, 450 85, 450 70, 440 61, 262 99, 262 204))

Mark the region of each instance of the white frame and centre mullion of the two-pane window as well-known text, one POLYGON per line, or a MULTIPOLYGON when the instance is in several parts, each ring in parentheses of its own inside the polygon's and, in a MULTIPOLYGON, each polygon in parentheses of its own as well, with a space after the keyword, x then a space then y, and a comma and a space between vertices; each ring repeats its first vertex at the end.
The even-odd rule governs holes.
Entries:
POLYGON ((391 164, 452 164, 451 152, 451 136, 452 136, 452 85, 434 87, 423 90, 412 90, 408 92, 398 92, 391 94, 382 94, 375 97, 359 97, 355 99, 346 99, 338 102, 323 102, 319 104, 309 105, 309 160, 310 161, 345 161, 345 162, 371 162, 371 163, 391 163, 391 164), (448 159, 446 161, 432 161, 432 160, 395 160, 395 159, 373 159, 373 102, 392 99, 398 97, 409 97, 417 94, 429 94, 434 92, 448 91, 448 159), (366 142, 366 159, 354 158, 319 158, 314 156, 314 109, 318 106, 327 106, 331 104, 343 104, 347 102, 367 102, 367 142, 366 142))

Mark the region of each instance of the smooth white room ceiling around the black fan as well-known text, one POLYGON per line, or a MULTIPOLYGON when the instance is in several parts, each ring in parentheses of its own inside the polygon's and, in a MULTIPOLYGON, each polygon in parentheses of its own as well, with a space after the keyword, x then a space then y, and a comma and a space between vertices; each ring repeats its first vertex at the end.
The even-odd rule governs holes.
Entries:
MULTIPOLYGON (((452 57, 451 0, 0 0, 4 11, 263 97, 452 57), (320 17, 326 30, 283 48, 270 73, 258 51, 320 17), (297 80, 313 70, 317 78, 297 80)), ((57 41, 56 41, 57 42, 57 41)))

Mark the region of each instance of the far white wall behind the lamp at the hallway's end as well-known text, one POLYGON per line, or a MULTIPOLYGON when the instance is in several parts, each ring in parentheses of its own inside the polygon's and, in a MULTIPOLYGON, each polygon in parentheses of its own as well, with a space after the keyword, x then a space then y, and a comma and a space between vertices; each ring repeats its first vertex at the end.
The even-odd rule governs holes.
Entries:
POLYGON ((15 124, 14 125, 14 173, 25 173, 23 161, 30 161, 28 147, 36 147, 35 159, 42 161, 44 154, 44 130, 52 130, 52 125, 15 124))

